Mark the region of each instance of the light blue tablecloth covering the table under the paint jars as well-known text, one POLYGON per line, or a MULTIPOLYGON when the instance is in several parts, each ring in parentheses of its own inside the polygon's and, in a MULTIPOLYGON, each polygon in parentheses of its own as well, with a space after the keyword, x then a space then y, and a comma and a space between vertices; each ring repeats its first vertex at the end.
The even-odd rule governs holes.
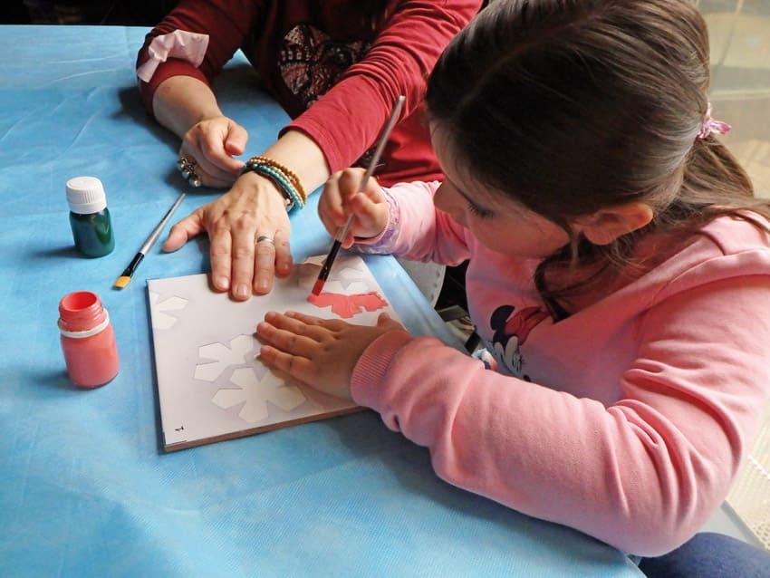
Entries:
MULTIPOLYGON (((440 481, 373 413, 159 450, 143 280, 206 271, 208 245, 156 247, 111 290, 182 186, 178 142, 136 91, 144 33, 0 26, 0 575, 638 575, 607 545, 440 481), (107 191, 117 246, 101 259, 72 248, 76 175, 107 191), (118 335, 120 375, 98 390, 69 384, 59 348, 57 303, 78 289, 101 295, 118 335)), ((274 139, 286 117, 245 59, 217 89, 249 150, 274 139)), ((297 258, 329 243, 314 207, 293 227, 297 258)), ((391 257, 369 263, 411 331, 451 342, 391 257)))

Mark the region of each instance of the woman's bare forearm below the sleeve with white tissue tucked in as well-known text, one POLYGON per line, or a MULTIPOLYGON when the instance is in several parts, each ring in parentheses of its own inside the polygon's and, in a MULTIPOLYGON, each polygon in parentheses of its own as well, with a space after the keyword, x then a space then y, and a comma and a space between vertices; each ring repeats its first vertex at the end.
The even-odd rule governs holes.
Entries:
POLYGON ((192 76, 171 76, 161 82, 152 97, 152 112, 180 139, 197 122, 222 116, 214 92, 192 76))

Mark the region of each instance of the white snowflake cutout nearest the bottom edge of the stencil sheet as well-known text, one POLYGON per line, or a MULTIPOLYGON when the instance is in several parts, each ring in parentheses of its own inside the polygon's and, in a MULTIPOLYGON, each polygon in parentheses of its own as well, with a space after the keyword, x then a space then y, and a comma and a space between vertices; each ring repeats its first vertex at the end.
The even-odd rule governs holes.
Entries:
POLYGON ((249 423, 267 419, 267 402, 284 411, 291 411, 301 406, 306 398, 302 390, 268 371, 258 379, 254 368, 241 368, 233 371, 230 381, 239 386, 239 390, 218 390, 212 401, 222 409, 229 409, 243 403, 238 417, 249 423))

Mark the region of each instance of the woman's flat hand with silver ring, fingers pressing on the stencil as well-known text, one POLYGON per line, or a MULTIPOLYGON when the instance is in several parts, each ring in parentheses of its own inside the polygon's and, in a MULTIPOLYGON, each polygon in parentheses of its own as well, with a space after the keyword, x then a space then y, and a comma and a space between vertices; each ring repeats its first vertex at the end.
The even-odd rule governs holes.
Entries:
POLYGON ((292 272, 284 197, 266 178, 245 173, 225 195, 172 226, 163 249, 176 251, 204 231, 211 240, 212 284, 234 299, 269 293, 274 275, 292 272), (273 242, 257 243, 260 236, 273 242))

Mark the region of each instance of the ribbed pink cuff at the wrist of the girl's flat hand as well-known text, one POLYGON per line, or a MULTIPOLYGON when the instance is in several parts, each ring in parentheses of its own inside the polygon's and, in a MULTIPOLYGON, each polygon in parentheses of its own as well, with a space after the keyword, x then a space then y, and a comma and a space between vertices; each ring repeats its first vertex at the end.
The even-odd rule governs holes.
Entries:
POLYGON ((387 332, 364 350, 351 376, 351 397, 358 405, 379 411, 381 384, 390 362, 404 345, 412 341, 408 332, 387 332))

